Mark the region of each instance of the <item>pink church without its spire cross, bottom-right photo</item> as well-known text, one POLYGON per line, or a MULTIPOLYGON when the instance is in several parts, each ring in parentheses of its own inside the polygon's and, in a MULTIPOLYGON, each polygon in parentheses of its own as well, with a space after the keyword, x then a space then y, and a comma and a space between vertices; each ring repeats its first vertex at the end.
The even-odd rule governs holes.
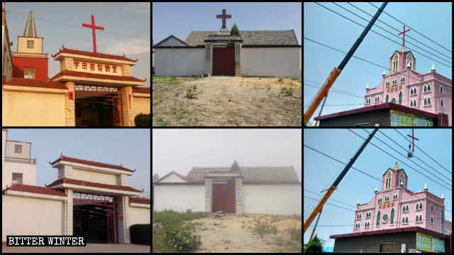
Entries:
POLYGON ((353 233, 405 227, 421 227, 442 234, 452 232, 452 222, 445 220, 444 194, 439 198, 428 192, 427 186, 423 191, 410 191, 408 176, 397 162, 384 171, 382 181, 382 190, 375 188, 370 202, 356 204, 353 233))

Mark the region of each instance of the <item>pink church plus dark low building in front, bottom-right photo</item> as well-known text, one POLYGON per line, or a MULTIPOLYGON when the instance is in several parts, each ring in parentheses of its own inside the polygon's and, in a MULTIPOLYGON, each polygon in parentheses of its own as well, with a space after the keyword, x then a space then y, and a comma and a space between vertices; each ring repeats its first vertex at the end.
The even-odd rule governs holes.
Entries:
POLYGON ((384 171, 373 198, 356 204, 353 233, 335 234, 334 252, 448 252, 452 222, 445 220, 445 196, 410 191, 397 162, 384 171))

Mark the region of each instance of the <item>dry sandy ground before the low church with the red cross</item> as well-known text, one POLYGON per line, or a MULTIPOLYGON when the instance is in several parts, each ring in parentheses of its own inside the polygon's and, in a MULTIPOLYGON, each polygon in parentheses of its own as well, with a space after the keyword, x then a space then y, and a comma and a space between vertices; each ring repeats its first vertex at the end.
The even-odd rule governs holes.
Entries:
POLYGON ((153 82, 153 126, 301 126, 300 82, 259 77, 153 82), (189 99, 187 89, 194 85, 203 94, 189 99), (282 87, 294 94, 282 93, 282 87))

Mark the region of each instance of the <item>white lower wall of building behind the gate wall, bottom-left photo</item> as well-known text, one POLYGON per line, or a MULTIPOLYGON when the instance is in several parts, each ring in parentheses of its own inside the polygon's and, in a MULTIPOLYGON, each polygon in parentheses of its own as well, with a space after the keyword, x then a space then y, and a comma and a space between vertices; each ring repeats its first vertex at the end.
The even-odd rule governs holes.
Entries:
POLYGON ((13 173, 22 174, 22 184, 36 185, 36 164, 4 162, 4 168, 1 171, 1 189, 5 189, 6 185, 12 185, 13 173))

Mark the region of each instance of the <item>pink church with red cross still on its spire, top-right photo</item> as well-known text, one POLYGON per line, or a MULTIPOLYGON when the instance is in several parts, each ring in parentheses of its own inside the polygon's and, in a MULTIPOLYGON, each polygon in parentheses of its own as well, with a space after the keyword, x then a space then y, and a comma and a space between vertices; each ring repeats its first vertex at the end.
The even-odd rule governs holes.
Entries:
POLYGON ((364 107, 389 102, 428 113, 445 113, 452 126, 451 79, 436 73, 434 65, 426 74, 416 72, 416 57, 404 46, 389 57, 389 70, 389 74, 383 72, 378 86, 367 86, 364 107))

